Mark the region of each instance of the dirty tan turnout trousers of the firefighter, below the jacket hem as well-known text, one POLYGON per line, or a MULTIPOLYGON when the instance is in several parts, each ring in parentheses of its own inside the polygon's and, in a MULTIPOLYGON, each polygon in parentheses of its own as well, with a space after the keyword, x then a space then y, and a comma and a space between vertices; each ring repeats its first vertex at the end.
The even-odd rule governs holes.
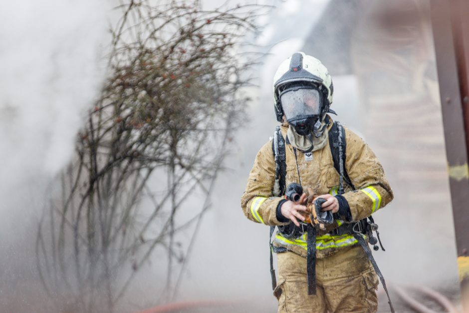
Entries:
POLYGON ((363 248, 341 248, 316 259, 316 295, 308 295, 306 258, 277 254, 278 313, 376 312, 378 276, 363 248))

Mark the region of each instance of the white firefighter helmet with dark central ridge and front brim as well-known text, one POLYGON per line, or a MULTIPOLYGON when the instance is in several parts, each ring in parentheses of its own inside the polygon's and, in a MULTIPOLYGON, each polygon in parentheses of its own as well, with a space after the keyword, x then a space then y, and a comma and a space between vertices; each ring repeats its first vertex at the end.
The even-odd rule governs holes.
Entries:
MULTIPOLYGON (((327 68, 315 57, 304 52, 295 52, 278 66, 273 76, 273 97, 275 99, 275 115, 281 122, 285 114, 280 94, 292 85, 316 89, 321 94, 319 115, 329 112, 334 88, 327 68)), ((332 111, 333 112, 333 111, 332 111)))

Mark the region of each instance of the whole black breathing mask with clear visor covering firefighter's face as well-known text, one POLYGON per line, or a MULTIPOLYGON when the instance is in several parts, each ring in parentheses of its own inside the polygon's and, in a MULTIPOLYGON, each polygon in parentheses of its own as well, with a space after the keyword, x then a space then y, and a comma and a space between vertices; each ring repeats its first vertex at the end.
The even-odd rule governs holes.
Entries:
POLYGON ((287 86, 279 94, 286 121, 301 136, 321 126, 322 94, 313 85, 287 86))

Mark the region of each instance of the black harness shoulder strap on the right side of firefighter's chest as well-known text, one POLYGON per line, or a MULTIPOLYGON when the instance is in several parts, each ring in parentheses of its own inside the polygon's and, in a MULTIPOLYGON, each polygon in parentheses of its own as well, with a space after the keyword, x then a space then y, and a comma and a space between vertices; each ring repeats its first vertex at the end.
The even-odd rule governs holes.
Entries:
MULTIPOLYGON (((341 178, 340 181, 342 182, 342 179, 344 179, 352 189, 355 189, 355 186, 353 186, 345 168, 347 147, 347 142, 345 141, 345 129, 338 121, 334 121, 331 129, 329 130, 329 147, 331 149, 334 168, 337 170, 341 178)), ((340 184, 339 190, 343 193, 342 183, 340 184)))

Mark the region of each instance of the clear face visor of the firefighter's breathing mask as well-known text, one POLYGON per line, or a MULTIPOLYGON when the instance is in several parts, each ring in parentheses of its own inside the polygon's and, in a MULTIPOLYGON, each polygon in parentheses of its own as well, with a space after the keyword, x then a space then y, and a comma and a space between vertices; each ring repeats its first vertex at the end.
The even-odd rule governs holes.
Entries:
POLYGON ((289 89, 280 95, 283 112, 287 120, 319 115, 321 96, 316 89, 289 89))

